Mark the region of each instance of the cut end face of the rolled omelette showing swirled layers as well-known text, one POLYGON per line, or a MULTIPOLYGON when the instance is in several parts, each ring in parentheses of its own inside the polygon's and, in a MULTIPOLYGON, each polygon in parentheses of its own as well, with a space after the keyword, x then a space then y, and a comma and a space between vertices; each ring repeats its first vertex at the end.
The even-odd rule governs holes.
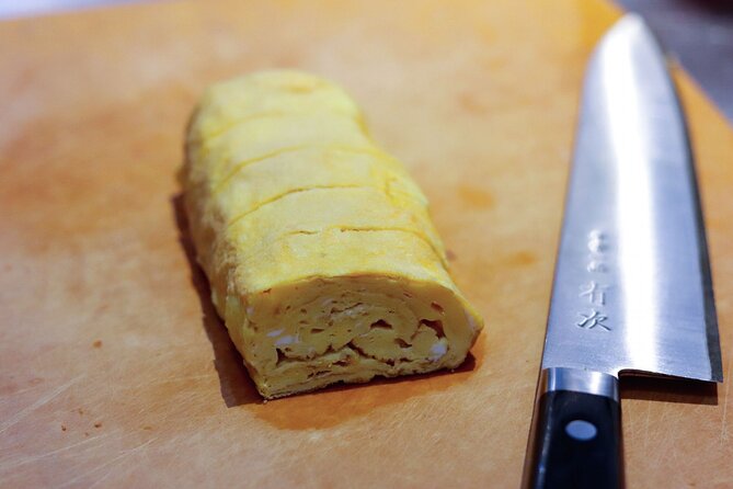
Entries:
POLYGON ((455 368, 480 327, 450 288, 401 276, 313 277, 238 303, 227 323, 266 398, 455 368))

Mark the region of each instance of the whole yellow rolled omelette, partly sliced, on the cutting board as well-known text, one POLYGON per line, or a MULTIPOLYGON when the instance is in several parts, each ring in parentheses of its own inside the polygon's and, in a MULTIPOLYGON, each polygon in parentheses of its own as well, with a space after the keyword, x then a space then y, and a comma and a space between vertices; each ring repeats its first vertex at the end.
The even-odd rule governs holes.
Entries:
POLYGON ((465 361, 483 321, 425 196, 339 87, 289 70, 211 86, 181 178, 211 300, 263 397, 465 361))

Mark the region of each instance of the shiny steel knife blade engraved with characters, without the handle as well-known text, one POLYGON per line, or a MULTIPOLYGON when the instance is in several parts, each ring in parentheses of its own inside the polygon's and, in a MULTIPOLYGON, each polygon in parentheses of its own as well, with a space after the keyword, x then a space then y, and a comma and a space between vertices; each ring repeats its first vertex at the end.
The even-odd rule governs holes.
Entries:
POLYGON ((565 205, 542 367, 720 380, 686 128, 633 15, 589 62, 565 205))

